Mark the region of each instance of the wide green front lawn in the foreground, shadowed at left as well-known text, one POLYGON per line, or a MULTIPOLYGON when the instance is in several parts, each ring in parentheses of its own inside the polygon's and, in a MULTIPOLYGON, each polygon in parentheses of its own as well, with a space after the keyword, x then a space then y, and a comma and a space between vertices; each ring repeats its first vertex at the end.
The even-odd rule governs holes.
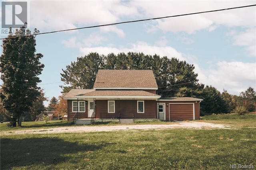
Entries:
POLYGON ((228 169, 256 166, 256 129, 1 136, 1 169, 228 169))

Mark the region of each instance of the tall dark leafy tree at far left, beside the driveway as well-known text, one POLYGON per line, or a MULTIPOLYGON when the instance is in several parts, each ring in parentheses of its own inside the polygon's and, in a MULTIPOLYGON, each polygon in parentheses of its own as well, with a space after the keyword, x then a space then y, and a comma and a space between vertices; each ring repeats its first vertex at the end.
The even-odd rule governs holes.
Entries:
MULTIPOLYGON (((34 33, 38 33, 34 30, 34 33)), ((36 52, 36 36, 31 35, 30 30, 21 27, 3 40, 3 54, 0 58, 0 72, 2 92, 0 98, 2 106, 12 117, 12 126, 21 126, 22 116, 27 113, 33 102, 40 95, 41 82, 38 75, 41 74, 44 64, 40 63, 43 57, 36 52), (28 35, 28 36, 24 36, 28 35), (17 38, 12 38, 18 36, 17 38), (23 36, 23 37, 21 37, 23 36)))

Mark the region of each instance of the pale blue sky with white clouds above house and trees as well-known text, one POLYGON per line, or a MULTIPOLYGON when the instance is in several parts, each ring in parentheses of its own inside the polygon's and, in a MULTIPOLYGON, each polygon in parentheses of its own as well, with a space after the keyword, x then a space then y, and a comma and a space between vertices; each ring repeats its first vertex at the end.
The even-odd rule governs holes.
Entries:
MULTIPOLYGON (((28 28, 50 32, 252 4, 256 2, 34 0, 28 1, 28 28)), ((45 65, 38 86, 49 99, 61 95, 60 73, 77 57, 129 51, 186 60, 194 64, 199 83, 239 95, 248 87, 256 89, 256 7, 43 34, 36 36, 36 50, 45 65)))

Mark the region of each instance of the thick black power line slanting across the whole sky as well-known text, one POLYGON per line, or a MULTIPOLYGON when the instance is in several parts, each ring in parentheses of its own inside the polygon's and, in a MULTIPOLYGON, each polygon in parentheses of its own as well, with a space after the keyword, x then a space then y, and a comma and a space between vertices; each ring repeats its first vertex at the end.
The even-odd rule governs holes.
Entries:
POLYGON ((125 21, 125 22, 116 22, 116 23, 112 23, 112 24, 103 24, 103 25, 97 25, 97 26, 88 26, 88 27, 81 27, 81 28, 72 28, 72 29, 67 29, 67 30, 58 30, 58 31, 52 31, 52 32, 43 32, 43 33, 36 33, 36 34, 24 35, 24 36, 14 36, 14 37, 0 38, 0 40, 4 40, 4 39, 8 39, 8 38, 17 38, 17 37, 26 37, 26 36, 36 36, 36 35, 40 35, 40 34, 51 34, 51 33, 55 33, 55 32, 64 32, 64 31, 72 31, 72 30, 81 30, 81 29, 86 29, 86 28, 96 28, 96 27, 103 27, 103 26, 113 26, 113 25, 125 24, 125 23, 132 23, 132 22, 142 22, 142 21, 149 21, 149 20, 159 20, 159 19, 163 19, 163 18, 172 18, 172 17, 178 17, 178 16, 187 16, 187 15, 208 13, 208 12, 218 12, 218 11, 224 11, 224 10, 233 10, 233 9, 238 9, 238 8, 252 7, 252 6, 256 6, 256 4, 254 4, 254 5, 247 5, 247 6, 238 6, 238 7, 234 7, 234 8, 225 8, 225 9, 220 9, 220 10, 211 10, 211 11, 204 11, 204 12, 194 12, 194 13, 180 14, 180 15, 174 15, 174 16, 164 16, 164 17, 158 17, 158 18, 148 18, 148 19, 143 19, 143 20, 133 20, 133 21, 125 21))

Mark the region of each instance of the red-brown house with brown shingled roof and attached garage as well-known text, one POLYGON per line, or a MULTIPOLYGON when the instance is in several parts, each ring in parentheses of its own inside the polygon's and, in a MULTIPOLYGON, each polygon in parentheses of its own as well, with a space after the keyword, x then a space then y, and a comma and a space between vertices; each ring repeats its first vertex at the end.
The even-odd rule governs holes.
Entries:
POLYGON ((136 119, 199 119, 202 99, 164 98, 152 70, 98 70, 93 89, 72 89, 68 100, 68 121, 136 119))

